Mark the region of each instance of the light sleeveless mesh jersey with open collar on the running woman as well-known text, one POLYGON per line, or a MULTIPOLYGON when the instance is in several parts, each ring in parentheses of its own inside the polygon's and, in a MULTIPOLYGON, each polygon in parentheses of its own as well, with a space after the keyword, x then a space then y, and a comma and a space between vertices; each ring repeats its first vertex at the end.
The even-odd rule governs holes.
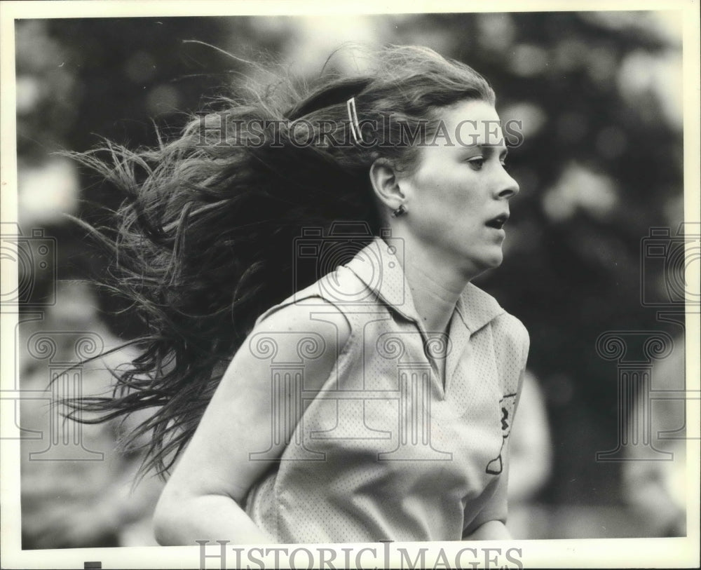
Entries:
MULTIPOLYGON (((247 495, 248 515, 280 543, 453 541, 489 520, 505 522, 528 333, 472 284, 448 334, 427 332, 400 255, 400 243, 375 238, 259 318, 318 299, 312 318, 323 320, 331 303, 351 326, 282 456, 247 495)), ((297 362, 271 358, 272 389, 295 391, 296 405, 320 338, 299 340, 297 362)), ((253 334, 251 350, 264 340, 253 334)), ((280 437, 292 414, 272 412, 271 437, 280 437)), ((266 459, 265 450, 250 459, 266 459)))

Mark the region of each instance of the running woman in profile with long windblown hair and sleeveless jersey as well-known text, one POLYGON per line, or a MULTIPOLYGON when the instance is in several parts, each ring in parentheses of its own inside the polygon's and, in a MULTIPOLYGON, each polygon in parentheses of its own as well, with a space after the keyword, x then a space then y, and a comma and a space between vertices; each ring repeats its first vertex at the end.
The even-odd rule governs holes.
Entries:
POLYGON ((428 48, 375 61, 83 158, 132 197, 117 267, 150 328, 83 405, 156 407, 162 544, 508 538, 528 335, 470 283, 518 192, 494 92, 428 48))

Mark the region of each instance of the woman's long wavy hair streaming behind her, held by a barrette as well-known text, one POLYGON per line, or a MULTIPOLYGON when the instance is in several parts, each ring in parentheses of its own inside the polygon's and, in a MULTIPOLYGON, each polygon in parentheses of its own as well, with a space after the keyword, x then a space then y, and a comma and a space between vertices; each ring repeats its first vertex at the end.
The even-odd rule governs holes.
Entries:
POLYGON ((437 109, 494 104, 482 76, 428 48, 388 46, 368 61, 355 76, 329 72, 304 88, 277 79, 223 98, 154 149, 107 142, 76 155, 124 196, 116 233, 93 233, 111 252, 102 285, 146 333, 130 343, 139 356, 113 371, 111 395, 72 400, 69 415, 95 423, 151 409, 127 440, 149 436, 142 473, 168 472, 258 316, 320 277, 294 265, 301 231, 362 220, 369 242, 383 224, 372 162, 411 169, 417 145, 403 142, 421 125, 430 136, 437 109))

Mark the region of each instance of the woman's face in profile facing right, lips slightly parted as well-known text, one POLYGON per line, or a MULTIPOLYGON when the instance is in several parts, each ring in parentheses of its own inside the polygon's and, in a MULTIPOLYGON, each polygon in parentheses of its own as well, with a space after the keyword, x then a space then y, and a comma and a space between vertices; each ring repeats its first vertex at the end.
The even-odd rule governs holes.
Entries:
POLYGON ((398 179, 404 222, 430 252, 472 278, 501 264, 502 226, 519 185, 504 168, 507 149, 491 104, 458 102, 437 118, 437 137, 428 140, 435 144, 418 149, 418 168, 398 179))

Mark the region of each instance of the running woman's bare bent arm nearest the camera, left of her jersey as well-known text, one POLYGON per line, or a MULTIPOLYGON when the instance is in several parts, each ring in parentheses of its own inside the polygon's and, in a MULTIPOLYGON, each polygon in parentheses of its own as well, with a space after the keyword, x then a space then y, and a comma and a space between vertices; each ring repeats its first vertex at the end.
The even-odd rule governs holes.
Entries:
MULTIPOLYGON (((308 391, 319 390, 326 381, 350 332, 338 309, 330 304, 320 306, 316 299, 313 306, 286 306, 269 315, 249 338, 260 333, 269 336, 278 346, 275 358, 288 362, 299 358, 297 344, 290 341, 294 334, 310 333, 323 339, 325 349, 320 357, 306 361, 304 388, 308 391), (324 320, 312 320, 311 314, 319 312, 325 313, 324 320)), ((250 461, 249 453, 271 446, 273 405, 275 409, 285 406, 285 400, 294 398, 294 394, 273 394, 271 360, 258 357, 250 350, 247 339, 226 370, 158 501, 154 527, 159 543, 273 542, 242 508, 249 489, 273 461, 250 461)), ((273 442, 271 456, 280 456, 284 447, 284 442, 273 442)))

